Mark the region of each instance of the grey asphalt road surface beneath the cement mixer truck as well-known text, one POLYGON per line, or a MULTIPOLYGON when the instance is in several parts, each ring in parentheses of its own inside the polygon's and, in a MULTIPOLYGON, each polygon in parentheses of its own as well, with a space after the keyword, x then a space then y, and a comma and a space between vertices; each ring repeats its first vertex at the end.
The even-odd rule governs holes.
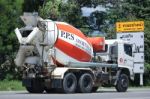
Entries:
POLYGON ((0 99, 150 99, 150 88, 130 88, 127 92, 100 88, 96 93, 43 93, 29 94, 27 91, 0 91, 0 99))

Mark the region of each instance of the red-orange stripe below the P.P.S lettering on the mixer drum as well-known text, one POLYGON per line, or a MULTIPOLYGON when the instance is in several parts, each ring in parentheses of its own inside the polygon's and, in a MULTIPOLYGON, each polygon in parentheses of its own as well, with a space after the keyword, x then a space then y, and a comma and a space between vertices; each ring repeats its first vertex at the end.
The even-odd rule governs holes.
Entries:
POLYGON ((78 61, 88 62, 91 60, 91 55, 64 40, 57 39, 55 47, 78 61))

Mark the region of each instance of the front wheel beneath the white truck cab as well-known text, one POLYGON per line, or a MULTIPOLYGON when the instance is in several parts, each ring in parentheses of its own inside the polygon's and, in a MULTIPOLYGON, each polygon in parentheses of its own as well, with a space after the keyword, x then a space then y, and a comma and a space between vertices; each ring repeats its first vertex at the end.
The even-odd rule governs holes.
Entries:
POLYGON ((129 85, 128 76, 126 74, 121 74, 115 87, 118 92, 126 92, 128 89, 128 85, 129 85))

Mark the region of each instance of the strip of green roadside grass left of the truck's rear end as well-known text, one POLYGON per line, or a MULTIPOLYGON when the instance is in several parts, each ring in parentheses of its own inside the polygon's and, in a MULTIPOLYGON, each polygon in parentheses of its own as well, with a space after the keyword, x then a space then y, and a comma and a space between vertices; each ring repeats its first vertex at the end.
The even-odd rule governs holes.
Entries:
POLYGON ((2 80, 0 81, 0 91, 16 91, 25 90, 22 82, 18 80, 2 80))

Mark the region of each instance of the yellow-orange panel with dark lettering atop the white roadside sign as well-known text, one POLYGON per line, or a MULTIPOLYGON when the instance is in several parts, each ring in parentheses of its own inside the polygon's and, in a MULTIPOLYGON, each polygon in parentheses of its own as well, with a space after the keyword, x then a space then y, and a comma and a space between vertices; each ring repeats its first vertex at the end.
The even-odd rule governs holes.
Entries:
POLYGON ((117 22, 116 31, 117 32, 144 31, 144 21, 117 22))

